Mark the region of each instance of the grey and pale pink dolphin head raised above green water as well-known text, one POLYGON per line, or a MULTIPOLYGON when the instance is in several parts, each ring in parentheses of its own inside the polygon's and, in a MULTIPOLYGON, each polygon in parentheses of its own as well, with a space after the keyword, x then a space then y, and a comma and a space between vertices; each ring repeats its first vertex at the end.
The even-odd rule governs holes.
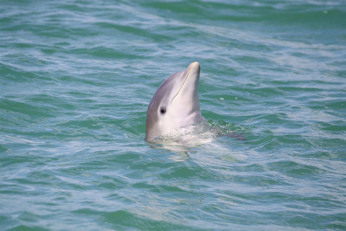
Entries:
POLYGON ((166 135, 175 127, 201 121, 199 74, 200 65, 194 62, 185 71, 172 74, 157 88, 147 111, 147 141, 166 135))

